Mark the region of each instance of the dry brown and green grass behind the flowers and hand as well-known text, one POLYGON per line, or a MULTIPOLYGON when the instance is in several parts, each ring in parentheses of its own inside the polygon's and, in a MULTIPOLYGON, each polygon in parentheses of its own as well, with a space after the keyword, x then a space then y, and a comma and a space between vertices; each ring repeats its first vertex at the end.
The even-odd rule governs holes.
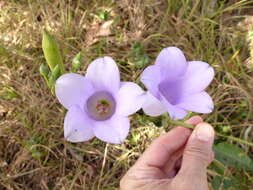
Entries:
MULTIPOLYGON (((91 60, 109 55, 123 80, 139 83, 143 69, 167 46, 180 47, 188 60, 208 62, 216 71, 208 88, 215 110, 203 115, 205 121, 252 142, 252 8, 251 0, 0 1, 0 189, 118 189, 152 139, 172 127, 165 117, 140 111, 131 116, 122 145, 66 142, 65 110, 38 72, 45 63, 43 29, 60 43, 68 70, 82 52, 82 74, 91 60)), ((252 148, 238 145, 252 158, 252 148)), ((208 178, 211 183, 223 170, 218 189, 226 189, 228 179, 240 181, 231 189, 253 189, 252 172, 217 163, 208 178)))

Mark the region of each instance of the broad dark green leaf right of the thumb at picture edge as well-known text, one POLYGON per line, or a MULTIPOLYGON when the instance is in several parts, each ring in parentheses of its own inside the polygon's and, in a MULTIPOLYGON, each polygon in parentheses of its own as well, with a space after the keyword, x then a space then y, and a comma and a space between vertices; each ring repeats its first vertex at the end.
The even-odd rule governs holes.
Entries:
POLYGON ((236 145, 219 143, 214 146, 214 152, 216 159, 227 166, 253 171, 253 161, 236 145))

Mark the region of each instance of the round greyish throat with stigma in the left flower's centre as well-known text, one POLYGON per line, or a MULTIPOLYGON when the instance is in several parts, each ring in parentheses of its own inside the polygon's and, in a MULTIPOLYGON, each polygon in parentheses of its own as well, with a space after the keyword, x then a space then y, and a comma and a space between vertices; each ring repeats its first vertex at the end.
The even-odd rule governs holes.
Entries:
POLYGON ((115 112, 116 102, 106 91, 99 91, 91 95, 87 102, 88 115, 97 121, 109 119, 115 112))

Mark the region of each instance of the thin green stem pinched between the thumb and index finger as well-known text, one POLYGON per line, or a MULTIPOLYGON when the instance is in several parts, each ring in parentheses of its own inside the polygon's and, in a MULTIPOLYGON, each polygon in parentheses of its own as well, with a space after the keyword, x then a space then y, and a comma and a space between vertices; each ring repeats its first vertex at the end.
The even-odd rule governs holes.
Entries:
MULTIPOLYGON (((191 124, 187 124, 187 123, 184 123, 182 121, 170 121, 170 123, 174 124, 174 125, 177 125, 177 126, 182 126, 182 127, 185 127, 185 128, 188 128, 188 129, 194 129, 194 126, 191 125, 191 124)), ((248 146, 251 146, 253 147, 253 143, 251 142, 248 142, 248 141, 245 141, 245 140, 242 140, 242 139, 239 139, 239 138, 236 138, 236 137, 233 137, 233 136, 227 136, 227 135, 223 135, 219 132, 215 132, 215 134, 219 137, 224 137, 224 138, 227 138, 229 140, 232 140, 232 141, 235 141, 235 142, 239 142, 239 143, 242 143, 242 144, 246 144, 248 146)))

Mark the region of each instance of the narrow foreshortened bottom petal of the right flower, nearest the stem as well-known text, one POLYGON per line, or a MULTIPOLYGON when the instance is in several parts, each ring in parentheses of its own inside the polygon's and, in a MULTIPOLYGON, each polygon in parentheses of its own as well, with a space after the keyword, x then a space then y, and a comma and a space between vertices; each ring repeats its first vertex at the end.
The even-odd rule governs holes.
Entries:
POLYGON ((171 105, 164 96, 161 96, 161 99, 163 104, 166 106, 171 119, 183 119, 187 115, 187 112, 184 109, 176 105, 171 105))

